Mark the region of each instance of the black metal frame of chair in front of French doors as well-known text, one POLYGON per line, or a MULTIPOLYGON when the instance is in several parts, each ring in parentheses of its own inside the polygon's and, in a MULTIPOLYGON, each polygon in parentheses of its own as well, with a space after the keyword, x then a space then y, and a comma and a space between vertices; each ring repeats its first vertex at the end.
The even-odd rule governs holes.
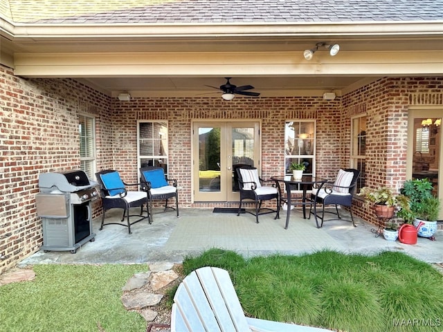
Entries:
POLYGON ((257 169, 256 167, 253 166, 242 166, 242 167, 238 167, 236 169, 237 171, 237 177, 238 177, 238 185, 239 185, 239 193, 240 193, 240 201, 239 201, 239 207, 238 207, 238 213, 237 216, 240 215, 240 213, 242 212, 242 203, 244 199, 250 199, 252 201, 254 201, 255 203, 255 210, 254 212, 245 210, 245 212, 252 214, 253 216, 255 216, 255 221, 258 223, 258 216, 262 215, 262 214, 269 214, 269 213, 274 213, 275 212, 275 218, 274 219, 280 219, 280 197, 281 197, 281 193, 280 193, 280 186, 278 185, 278 181, 275 180, 263 180, 262 178, 259 177, 260 180, 260 184, 263 185, 263 183, 273 183, 272 187, 275 187, 277 189, 277 193, 275 194, 265 194, 265 195, 260 195, 257 194, 255 192, 255 190, 257 189, 257 183, 255 182, 244 182, 243 178, 242 178, 242 173, 240 172, 240 169, 257 169), (251 190, 244 190, 243 187, 245 184, 251 183, 251 190), (262 208, 262 201, 269 201, 271 199, 276 199, 277 200, 277 209, 273 210, 271 208, 262 208))

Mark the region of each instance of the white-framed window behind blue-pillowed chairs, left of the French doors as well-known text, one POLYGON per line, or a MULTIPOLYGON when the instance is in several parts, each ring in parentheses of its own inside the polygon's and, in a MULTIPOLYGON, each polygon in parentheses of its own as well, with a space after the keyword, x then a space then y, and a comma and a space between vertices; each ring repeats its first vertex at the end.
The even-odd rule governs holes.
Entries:
POLYGON ((140 167, 161 166, 168 174, 168 122, 138 122, 137 138, 140 167))

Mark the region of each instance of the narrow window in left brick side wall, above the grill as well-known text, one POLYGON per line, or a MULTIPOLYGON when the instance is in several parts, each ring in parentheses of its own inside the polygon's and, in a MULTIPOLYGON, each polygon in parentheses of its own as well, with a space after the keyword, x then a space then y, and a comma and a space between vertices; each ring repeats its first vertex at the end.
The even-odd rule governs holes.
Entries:
POLYGON ((80 132, 80 169, 89 178, 96 172, 96 119, 89 116, 78 116, 80 132))

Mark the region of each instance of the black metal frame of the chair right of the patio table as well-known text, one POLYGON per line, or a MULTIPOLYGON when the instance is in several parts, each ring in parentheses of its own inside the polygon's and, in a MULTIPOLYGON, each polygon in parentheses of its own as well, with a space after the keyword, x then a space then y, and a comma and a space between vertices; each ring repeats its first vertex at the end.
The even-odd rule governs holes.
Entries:
MULTIPOLYGON (((343 169, 343 170, 345 172, 354 173, 354 176, 352 176, 352 181, 351 181, 351 184, 349 187, 336 186, 336 185, 334 185, 334 182, 328 181, 327 183, 325 183, 325 185, 323 185, 323 188, 321 189, 321 190, 325 190, 327 196, 322 198, 322 197, 318 196, 318 193, 311 194, 311 201, 313 201, 314 203, 311 205, 311 208, 309 209, 309 216, 311 214, 314 214, 314 217, 316 219, 317 228, 323 227, 323 221, 325 221, 325 212, 330 213, 330 214, 335 214, 337 216, 337 219, 341 219, 341 216, 338 213, 338 205, 342 205, 342 206, 349 208, 352 225, 354 225, 354 227, 357 227, 357 225, 354 222, 354 216, 352 215, 352 199, 354 198, 353 196, 354 196, 354 192, 356 190, 357 178, 359 178, 360 171, 358 169, 353 169, 353 168, 347 168, 347 169, 343 169), (332 194, 333 193, 332 187, 346 189, 349 192, 349 195, 332 194), (314 208, 313 208, 313 205, 314 205, 314 208), (318 215, 317 205, 322 206, 321 216, 318 215), (325 211, 325 205, 335 205, 335 212, 334 211, 325 211), (318 219, 321 220, 320 225, 318 225, 318 219)), ((334 219, 328 219, 328 220, 334 220, 334 219)), ((341 219, 341 220, 343 220, 343 219, 341 219)))

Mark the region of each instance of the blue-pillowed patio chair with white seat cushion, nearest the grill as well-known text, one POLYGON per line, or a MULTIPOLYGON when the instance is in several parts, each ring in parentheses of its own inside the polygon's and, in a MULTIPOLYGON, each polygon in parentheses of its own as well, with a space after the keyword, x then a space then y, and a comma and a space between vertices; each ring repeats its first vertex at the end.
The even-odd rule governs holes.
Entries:
MULTIPOLYGON (((100 196, 102 197, 102 223, 100 230, 104 225, 122 225, 127 227, 127 231, 131 234, 131 225, 138 223, 146 218, 149 219, 149 214, 143 216, 143 205, 147 205, 147 194, 139 191, 129 191, 127 186, 138 187, 139 183, 129 184, 124 183, 120 178, 120 174, 114 169, 106 169, 96 173, 96 178, 100 184, 100 196), (140 208, 140 214, 129 214, 129 208, 140 208), (123 209, 123 216, 120 223, 108 222, 105 223, 105 212, 110 209, 123 209), (127 223, 121 223, 127 218, 127 223), (140 216, 136 221, 130 221, 130 217, 140 216)), ((152 223, 149 221, 149 223, 152 223)))

